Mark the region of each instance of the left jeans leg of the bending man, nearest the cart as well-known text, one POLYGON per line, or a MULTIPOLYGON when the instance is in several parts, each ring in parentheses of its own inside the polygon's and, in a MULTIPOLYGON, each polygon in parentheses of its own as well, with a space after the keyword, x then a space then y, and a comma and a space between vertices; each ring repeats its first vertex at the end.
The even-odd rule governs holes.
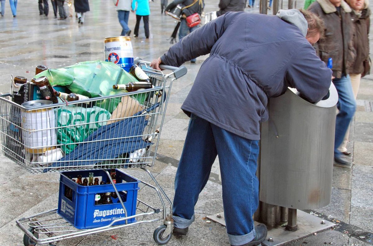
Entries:
POLYGON ((210 122, 191 115, 175 176, 173 220, 178 228, 194 221, 194 206, 209 179, 217 151, 210 122))

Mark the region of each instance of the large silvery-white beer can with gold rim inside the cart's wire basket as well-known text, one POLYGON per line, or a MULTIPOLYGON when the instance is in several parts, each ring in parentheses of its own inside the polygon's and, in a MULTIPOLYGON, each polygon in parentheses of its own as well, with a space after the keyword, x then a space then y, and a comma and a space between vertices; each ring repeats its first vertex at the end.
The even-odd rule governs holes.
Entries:
POLYGON ((53 108, 33 109, 51 105, 48 100, 32 100, 22 103, 29 108, 22 110, 22 141, 28 153, 44 153, 56 148, 56 115, 53 108))

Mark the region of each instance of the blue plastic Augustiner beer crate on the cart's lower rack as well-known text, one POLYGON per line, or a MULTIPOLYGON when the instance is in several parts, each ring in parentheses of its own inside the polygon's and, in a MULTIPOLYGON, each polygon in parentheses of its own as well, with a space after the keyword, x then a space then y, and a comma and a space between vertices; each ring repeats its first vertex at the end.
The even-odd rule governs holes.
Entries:
MULTIPOLYGON (((108 169, 109 173, 110 170, 108 169)), ((113 198, 112 204, 95 205, 95 195, 113 192, 112 184, 106 184, 109 177, 103 170, 78 170, 60 172, 60 190, 58 199, 57 213, 69 221, 78 229, 88 229, 100 226, 106 226, 113 220, 128 217, 136 214, 136 202, 138 179, 135 179, 119 169, 116 172, 116 188, 122 198, 123 204, 127 210, 127 215, 123 210, 118 198, 113 198), (104 185, 78 185, 72 179, 77 180, 78 175, 88 179, 89 173, 92 172, 94 178, 104 181, 104 185), (72 197, 67 197, 68 189, 72 190, 72 197)), ((71 194, 71 193, 70 193, 71 194)), ((135 218, 127 220, 128 223, 135 221, 135 218)), ((125 220, 114 223, 124 224, 125 220)))

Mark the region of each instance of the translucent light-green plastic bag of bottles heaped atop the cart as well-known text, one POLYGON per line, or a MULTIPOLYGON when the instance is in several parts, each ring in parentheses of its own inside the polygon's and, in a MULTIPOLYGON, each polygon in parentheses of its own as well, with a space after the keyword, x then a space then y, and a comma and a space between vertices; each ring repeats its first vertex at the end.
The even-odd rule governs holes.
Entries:
MULTIPOLYGON (((89 98, 121 94, 123 90, 114 90, 114 84, 138 81, 132 74, 127 73, 116 64, 100 60, 84 61, 68 67, 48 69, 37 74, 34 78, 41 76, 46 76, 52 86, 66 86, 70 91, 89 98)), ((143 105, 147 98, 146 94, 139 93, 132 97, 143 105)), ((110 98, 110 100, 98 100, 95 105, 111 113, 119 102, 120 98, 110 98)))

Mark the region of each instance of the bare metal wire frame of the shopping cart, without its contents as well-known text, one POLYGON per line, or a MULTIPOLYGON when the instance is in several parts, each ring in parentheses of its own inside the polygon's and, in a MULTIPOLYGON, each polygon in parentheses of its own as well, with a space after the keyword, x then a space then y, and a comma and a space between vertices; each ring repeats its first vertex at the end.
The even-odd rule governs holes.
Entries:
MULTIPOLYGON (((145 101, 144 103, 144 113, 147 114, 148 117, 148 122, 146 125, 146 134, 136 136, 136 137, 149 137, 149 136, 155 136, 155 128, 159 128, 159 134, 162 132, 162 126, 163 126, 163 121, 164 121, 164 112, 166 111, 166 106, 169 100, 169 95, 170 95, 170 89, 172 86, 172 82, 175 79, 178 79, 179 77, 182 77, 186 74, 186 68, 185 67, 171 67, 171 66, 160 66, 162 69, 165 70, 171 70, 171 73, 164 74, 162 71, 158 70, 153 70, 152 68, 148 67, 150 64, 147 61, 143 61, 141 58, 135 58, 134 64, 138 64, 138 66, 142 67, 143 70, 148 74, 150 77, 153 85, 152 89, 146 89, 146 90, 141 90, 140 92, 129 92, 129 93, 124 93, 124 94, 119 94, 115 96, 104 96, 100 98, 91 98, 91 99, 86 99, 86 100, 79 100, 76 102, 69 103, 71 105, 82 105, 82 103, 86 102, 94 102, 95 100, 105 100, 105 99, 111 99, 113 97, 118 98, 120 96, 134 96, 139 93, 148 93, 148 100, 145 101), (163 95, 161 96, 161 100, 159 100, 159 96, 156 95, 156 92, 163 92, 163 95), (158 108, 156 110, 156 108, 158 108), (159 117, 160 116, 160 117, 159 117)), ((151 172, 147 169, 147 167, 151 167, 154 165, 154 162, 156 160, 156 153, 157 153, 157 148, 159 144, 160 137, 157 138, 157 141, 153 143, 154 149, 152 149, 152 145, 150 145, 149 150, 146 151, 144 156, 140 156, 137 159, 131 159, 130 157, 120 157, 117 158, 120 160, 118 164, 113 164, 112 159, 92 159, 90 161, 93 162, 98 162, 99 164, 97 165, 92 165, 92 164, 81 164, 79 163, 73 163, 73 164, 66 164, 62 163, 61 166, 50 166, 45 163, 31 163, 28 162, 21 156, 20 153, 25 153, 25 152, 20 152, 15 150, 14 148, 10 148, 9 144, 6 144, 6 141, 11 139, 13 142, 16 144, 19 144, 23 147, 25 145, 22 143, 22 141, 19 141, 19 139, 14 139, 14 136, 9 134, 9 124, 14 124, 14 122, 11 121, 11 116, 10 116, 10 109, 15 108, 19 113, 21 110, 26 110, 26 108, 10 101, 6 97, 10 96, 9 94, 6 95, 1 95, 0 96, 0 137, 2 140, 1 147, 3 150, 3 153, 6 157, 9 159, 15 161, 17 164, 19 164, 22 167, 25 167, 26 170, 28 170, 31 173, 39 173, 39 172, 50 172, 50 171, 61 171, 61 170, 90 170, 90 169, 108 169, 112 168, 113 166, 115 167, 139 167, 140 169, 144 170, 145 172, 148 173, 148 175, 151 177, 153 182, 155 183, 155 186, 150 185, 147 182, 144 182, 140 180, 141 183, 143 183, 145 186, 148 186, 152 189, 154 189, 154 192, 156 192, 157 196, 159 197, 161 203, 162 203, 162 208, 155 208, 149 204, 147 204, 144 201, 141 201, 140 199, 137 199, 137 205, 136 209, 137 211, 140 211, 140 213, 136 213, 135 215, 128 216, 125 205, 123 204, 122 199, 120 198, 119 192, 116 188, 115 183, 112 180, 112 177, 110 173, 107 170, 104 170, 107 178, 110 180, 113 189, 115 190, 115 193, 117 197, 119 198, 120 204, 123 207, 123 210, 125 211, 125 217, 116 219, 111 221, 110 224, 106 226, 101 226, 101 227, 96 227, 92 229, 76 229, 73 227, 72 224, 70 224, 68 221, 66 221, 64 218, 62 218, 59 214, 57 214, 57 208, 49 211, 44 211, 42 213, 34 214, 29 217, 25 218, 20 218, 19 220, 16 220, 17 226, 25 233, 23 237, 23 243, 24 245, 36 245, 36 244, 44 244, 44 243, 49 243, 50 245, 53 242, 57 242, 63 239, 69 239, 73 237, 78 237, 78 236, 85 236, 88 234, 93 234, 93 233, 98 233, 98 232, 103 232, 103 231, 108 231, 108 230, 113 230, 113 229, 119 229, 122 227, 128 227, 128 226, 135 226, 137 224, 141 223, 148 223, 148 222, 154 222, 158 220, 163 220, 163 224, 157 227, 156 230, 154 230, 153 233, 153 239, 155 240, 156 243, 159 245, 164 245, 169 240, 171 239, 172 236, 172 227, 173 227, 173 219, 172 219, 172 202, 170 199, 167 197, 166 193, 163 191, 162 187, 159 185, 157 180, 154 178, 154 176, 151 174, 151 172), (133 160, 133 162, 131 162, 133 160), (168 202, 168 206, 166 206, 166 200, 168 202), (143 208, 142 208, 143 207, 143 208), (150 220, 144 220, 144 218, 148 215, 152 214, 158 214, 162 211, 163 216, 161 218, 153 218, 150 220), (139 218, 142 217, 142 220, 138 220, 132 223, 128 223, 129 219, 132 218, 139 218), (125 221, 125 224, 119 224, 119 225, 113 225, 116 222, 119 221, 125 221), (39 238, 41 236, 41 238, 39 238)), ((64 105, 63 103, 56 104, 56 107, 64 105)), ((38 108, 33 108, 35 110, 43 110, 46 109, 46 106, 38 107, 38 108)), ((129 117, 123 117, 121 119, 125 119, 129 117)), ((99 121, 102 122, 105 120, 99 121)), ((106 121, 109 121, 106 119, 106 121)), ((79 126, 79 124, 75 124, 75 126, 79 126)), ((51 129, 56 129, 58 130, 61 127, 52 127, 51 129)), ((26 130, 21 127, 22 131, 30 131, 31 133, 34 132, 35 130, 26 130)), ((158 130, 158 129, 157 129, 158 130)), ((133 137, 133 136, 132 136, 133 137)), ((83 143, 83 142, 82 142, 83 143)), ((61 145, 61 144, 60 144, 61 145)), ((48 146, 43 146, 43 147, 48 147, 48 146)), ((34 152, 33 152, 34 153, 34 152)), ((68 162, 66 162, 68 163, 68 162)), ((122 171, 122 170, 121 170, 122 171)), ((125 173, 125 172, 123 172, 125 173)))

